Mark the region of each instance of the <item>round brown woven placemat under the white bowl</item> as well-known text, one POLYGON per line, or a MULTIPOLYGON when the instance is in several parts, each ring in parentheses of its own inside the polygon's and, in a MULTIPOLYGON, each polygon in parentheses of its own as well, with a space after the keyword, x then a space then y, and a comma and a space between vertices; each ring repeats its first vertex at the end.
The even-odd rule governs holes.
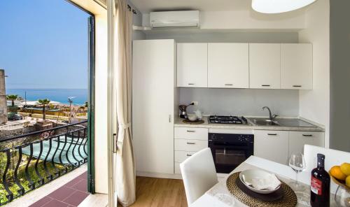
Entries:
POLYGON ((247 206, 257 206, 257 207, 294 207, 297 205, 297 196, 295 192, 283 181, 281 181, 281 188, 283 190, 283 197, 276 201, 262 201, 260 199, 250 197, 248 194, 244 193, 237 185, 236 180, 239 179, 239 173, 233 173, 228 177, 226 181, 226 186, 230 193, 236 197, 241 203, 247 206))

